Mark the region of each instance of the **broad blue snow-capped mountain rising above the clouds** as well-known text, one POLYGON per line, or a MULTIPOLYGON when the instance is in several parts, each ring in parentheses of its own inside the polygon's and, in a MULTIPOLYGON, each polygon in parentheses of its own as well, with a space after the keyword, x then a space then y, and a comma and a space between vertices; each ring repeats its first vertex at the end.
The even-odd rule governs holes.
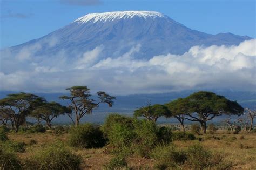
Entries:
POLYGON ((208 33, 192 30, 168 16, 154 11, 90 13, 48 35, 10 48, 19 52, 36 46, 35 56, 54 55, 65 50, 70 55, 103 46, 102 58, 119 57, 140 44, 139 58, 167 53, 183 54, 195 45, 238 45, 248 36, 232 33, 208 33))

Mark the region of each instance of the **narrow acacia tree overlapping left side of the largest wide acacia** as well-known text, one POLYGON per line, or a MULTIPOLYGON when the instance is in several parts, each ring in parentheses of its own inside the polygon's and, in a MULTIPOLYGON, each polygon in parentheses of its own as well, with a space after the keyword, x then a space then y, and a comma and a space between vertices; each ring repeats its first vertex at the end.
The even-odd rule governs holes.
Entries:
POLYGON ((184 120, 185 115, 188 113, 188 103, 185 99, 178 98, 165 104, 172 113, 172 116, 179 120, 183 132, 185 132, 184 120))

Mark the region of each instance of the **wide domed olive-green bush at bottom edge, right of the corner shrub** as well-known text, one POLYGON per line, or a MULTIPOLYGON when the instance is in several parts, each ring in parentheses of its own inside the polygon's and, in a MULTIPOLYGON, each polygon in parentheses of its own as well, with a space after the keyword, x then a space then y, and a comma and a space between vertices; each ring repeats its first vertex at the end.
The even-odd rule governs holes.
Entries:
POLYGON ((63 144, 54 144, 39 149, 24 162, 24 169, 80 169, 82 158, 63 144))

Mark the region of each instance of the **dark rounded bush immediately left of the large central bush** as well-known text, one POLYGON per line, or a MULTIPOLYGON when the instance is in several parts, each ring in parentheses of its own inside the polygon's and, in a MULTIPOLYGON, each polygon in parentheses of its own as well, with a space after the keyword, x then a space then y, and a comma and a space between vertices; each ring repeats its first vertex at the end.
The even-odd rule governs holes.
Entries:
POLYGON ((105 145, 103 132, 99 126, 93 124, 79 125, 70 130, 70 146, 79 148, 97 148, 105 145))

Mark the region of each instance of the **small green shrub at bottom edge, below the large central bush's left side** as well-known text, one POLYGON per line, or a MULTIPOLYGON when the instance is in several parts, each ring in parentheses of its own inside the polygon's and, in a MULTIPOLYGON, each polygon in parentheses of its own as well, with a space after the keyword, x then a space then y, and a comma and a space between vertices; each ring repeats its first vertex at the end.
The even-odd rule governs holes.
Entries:
POLYGON ((105 167, 107 169, 117 169, 117 168, 123 168, 127 166, 127 162, 125 160, 125 156, 122 154, 118 154, 116 157, 113 157, 109 164, 107 164, 105 167))

